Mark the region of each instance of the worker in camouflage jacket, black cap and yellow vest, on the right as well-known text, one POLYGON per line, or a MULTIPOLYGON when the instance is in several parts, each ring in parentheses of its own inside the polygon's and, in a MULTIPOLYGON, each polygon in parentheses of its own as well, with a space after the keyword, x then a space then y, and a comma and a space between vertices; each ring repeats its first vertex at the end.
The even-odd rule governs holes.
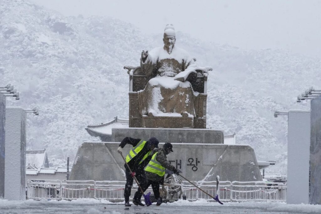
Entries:
MULTIPOLYGON (((141 187, 143 191, 152 185, 155 199, 157 200, 156 205, 159 206, 162 203, 160 198, 160 184, 164 184, 164 175, 165 170, 169 169, 175 174, 179 174, 178 169, 176 169, 170 162, 167 160, 166 155, 173 151, 173 146, 171 143, 165 143, 162 148, 154 150, 152 159, 149 161, 145 167, 145 173, 147 177, 147 182, 142 184, 141 187)), ((133 201, 140 201, 142 193, 137 191, 134 195, 133 201)))

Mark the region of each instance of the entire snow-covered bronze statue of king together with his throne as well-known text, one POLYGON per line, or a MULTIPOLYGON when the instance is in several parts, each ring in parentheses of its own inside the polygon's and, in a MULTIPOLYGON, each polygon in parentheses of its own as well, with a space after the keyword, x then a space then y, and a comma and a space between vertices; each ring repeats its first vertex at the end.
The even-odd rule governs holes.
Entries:
MULTIPOLYGON (((206 80, 210 67, 176 47, 173 25, 164 30, 164 46, 142 51, 141 66, 130 74, 130 127, 205 128, 206 80)), ((132 71, 133 70, 133 71, 132 71)))

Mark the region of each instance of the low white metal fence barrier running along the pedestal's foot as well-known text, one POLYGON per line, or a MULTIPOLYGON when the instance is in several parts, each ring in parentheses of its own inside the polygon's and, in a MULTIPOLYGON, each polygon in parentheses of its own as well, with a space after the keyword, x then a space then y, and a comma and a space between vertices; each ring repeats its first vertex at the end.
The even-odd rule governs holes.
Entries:
MULTIPOLYGON (((198 181, 193 183, 215 197, 216 181, 198 181)), ((94 198, 118 202, 125 200, 125 184, 125 181, 28 180, 27 198, 35 200, 94 198)), ((178 186, 180 187, 181 194, 176 194, 176 199, 185 195, 188 201, 198 199, 214 201, 213 198, 187 181, 183 181, 182 184, 166 184, 167 197, 169 197, 168 189, 177 189, 178 186)), ((221 201, 286 201, 286 183, 220 181, 219 189, 221 201)), ((134 195, 136 190, 137 185, 134 184, 131 196, 134 195)), ((147 189, 147 192, 152 192, 152 189, 147 189)))

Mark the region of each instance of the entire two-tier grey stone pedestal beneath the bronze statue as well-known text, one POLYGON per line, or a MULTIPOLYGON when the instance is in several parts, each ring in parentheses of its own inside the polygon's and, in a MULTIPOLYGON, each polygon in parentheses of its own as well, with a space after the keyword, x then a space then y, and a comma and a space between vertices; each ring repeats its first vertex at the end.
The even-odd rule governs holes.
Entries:
MULTIPOLYGON (((79 147, 70 180, 125 181, 124 160, 117 152, 125 137, 156 137, 159 147, 173 144, 167 159, 192 181, 261 181, 254 150, 249 145, 224 145, 224 133, 213 129, 113 128, 113 142, 84 142, 79 147)), ((131 145, 126 145, 126 156, 131 145)))

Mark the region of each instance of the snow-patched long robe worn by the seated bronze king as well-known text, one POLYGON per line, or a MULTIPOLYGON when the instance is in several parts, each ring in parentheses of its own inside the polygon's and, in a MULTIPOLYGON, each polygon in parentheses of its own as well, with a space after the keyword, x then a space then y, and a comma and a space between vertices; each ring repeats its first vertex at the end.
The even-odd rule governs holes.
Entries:
POLYGON ((186 112, 195 117, 198 92, 193 91, 189 81, 175 80, 178 73, 194 67, 193 58, 181 48, 174 46, 171 54, 163 47, 152 49, 145 62, 141 60, 143 73, 151 78, 145 89, 138 91, 142 115, 151 112, 154 116, 180 116, 186 112))

